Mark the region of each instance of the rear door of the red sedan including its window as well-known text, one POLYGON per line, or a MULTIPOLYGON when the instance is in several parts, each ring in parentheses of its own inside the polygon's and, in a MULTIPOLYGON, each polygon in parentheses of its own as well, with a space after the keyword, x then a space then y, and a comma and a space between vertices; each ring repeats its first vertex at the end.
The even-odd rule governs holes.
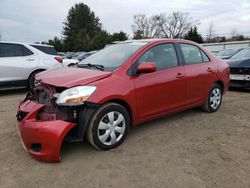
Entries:
POLYGON ((186 105, 200 104, 205 101, 215 80, 213 63, 197 46, 180 44, 185 62, 187 79, 186 105))

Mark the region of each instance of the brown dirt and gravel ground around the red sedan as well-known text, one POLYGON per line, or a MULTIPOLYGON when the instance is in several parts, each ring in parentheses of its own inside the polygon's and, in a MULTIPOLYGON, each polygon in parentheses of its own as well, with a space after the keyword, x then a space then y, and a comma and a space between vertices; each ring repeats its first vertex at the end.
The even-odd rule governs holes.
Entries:
POLYGON ((31 158, 15 127, 24 91, 0 93, 0 187, 250 187, 250 92, 217 113, 189 110, 133 128, 111 151, 64 144, 62 162, 31 158))

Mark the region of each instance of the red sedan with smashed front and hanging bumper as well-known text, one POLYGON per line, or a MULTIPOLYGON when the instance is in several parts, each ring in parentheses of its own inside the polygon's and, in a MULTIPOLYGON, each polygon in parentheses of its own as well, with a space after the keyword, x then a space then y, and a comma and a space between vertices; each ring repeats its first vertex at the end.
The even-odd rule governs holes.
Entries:
POLYGON ((131 126, 201 106, 216 112, 228 90, 229 68, 186 40, 133 40, 113 44, 77 68, 39 73, 17 112, 25 149, 60 160, 64 140, 84 138, 96 148, 120 145, 131 126))

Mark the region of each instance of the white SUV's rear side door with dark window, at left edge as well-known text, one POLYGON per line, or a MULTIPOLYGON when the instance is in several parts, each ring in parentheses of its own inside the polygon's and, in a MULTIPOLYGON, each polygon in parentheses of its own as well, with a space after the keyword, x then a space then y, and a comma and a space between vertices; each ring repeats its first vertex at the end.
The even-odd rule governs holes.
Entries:
POLYGON ((21 44, 0 43, 0 82, 25 81, 39 58, 21 44))

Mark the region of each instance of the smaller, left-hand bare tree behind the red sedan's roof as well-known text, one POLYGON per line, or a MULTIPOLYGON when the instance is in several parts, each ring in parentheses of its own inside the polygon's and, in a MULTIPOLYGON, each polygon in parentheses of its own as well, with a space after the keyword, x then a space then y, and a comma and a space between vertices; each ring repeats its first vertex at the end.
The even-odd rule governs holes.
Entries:
POLYGON ((136 38, 157 38, 160 36, 158 16, 147 17, 145 14, 134 15, 132 30, 136 38))

